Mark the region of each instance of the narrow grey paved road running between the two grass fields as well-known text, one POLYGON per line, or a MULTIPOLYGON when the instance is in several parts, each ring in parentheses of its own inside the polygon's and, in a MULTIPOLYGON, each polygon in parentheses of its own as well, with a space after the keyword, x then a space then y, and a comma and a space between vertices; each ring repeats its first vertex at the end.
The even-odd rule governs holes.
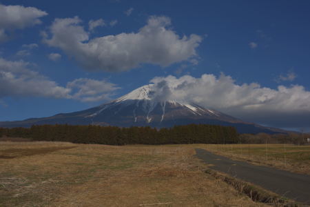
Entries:
POLYGON ((213 164, 211 169, 251 182, 283 197, 310 204, 309 175, 300 175, 265 166, 254 166, 245 161, 214 155, 203 149, 196 149, 196 156, 207 164, 213 164))

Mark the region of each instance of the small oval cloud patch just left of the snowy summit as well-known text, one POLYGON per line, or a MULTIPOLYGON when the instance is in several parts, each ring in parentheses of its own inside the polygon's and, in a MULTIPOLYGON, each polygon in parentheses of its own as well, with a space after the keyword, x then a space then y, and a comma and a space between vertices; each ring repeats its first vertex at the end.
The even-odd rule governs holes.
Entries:
POLYGON ((115 84, 105 80, 97 81, 85 78, 75 79, 69 82, 67 88, 75 90, 72 93, 72 99, 79 99, 85 102, 110 99, 112 92, 118 89, 115 84))

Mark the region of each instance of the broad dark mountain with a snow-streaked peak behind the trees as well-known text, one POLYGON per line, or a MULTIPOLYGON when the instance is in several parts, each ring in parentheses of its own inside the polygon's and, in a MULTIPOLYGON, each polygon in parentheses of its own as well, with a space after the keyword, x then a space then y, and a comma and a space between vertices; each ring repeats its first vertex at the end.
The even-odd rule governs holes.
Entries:
POLYGON ((169 128, 186 124, 234 126, 240 133, 285 132, 248 123, 196 103, 176 101, 158 96, 152 84, 142 86, 109 103, 78 112, 61 113, 52 117, 0 121, 0 127, 30 127, 42 124, 72 124, 99 126, 151 126, 169 128))

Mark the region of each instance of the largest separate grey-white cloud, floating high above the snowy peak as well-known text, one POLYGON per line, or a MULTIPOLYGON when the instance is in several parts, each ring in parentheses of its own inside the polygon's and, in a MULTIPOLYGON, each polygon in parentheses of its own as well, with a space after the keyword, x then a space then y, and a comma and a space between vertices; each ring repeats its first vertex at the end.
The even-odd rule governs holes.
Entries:
POLYGON ((87 70, 125 71, 143 63, 169 66, 196 57, 202 38, 196 34, 179 37, 167 28, 167 17, 150 17, 147 25, 134 33, 90 39, 79 17, 55 19, 52 37, 43 37, 49 46, 61 48, 87 70))

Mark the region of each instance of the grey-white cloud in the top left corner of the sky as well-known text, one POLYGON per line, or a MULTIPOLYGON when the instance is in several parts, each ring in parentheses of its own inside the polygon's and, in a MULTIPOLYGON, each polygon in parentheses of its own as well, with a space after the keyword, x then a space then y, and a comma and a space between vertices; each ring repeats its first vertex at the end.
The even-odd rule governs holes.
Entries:
POLYGON ((4 6, 0 4, 0 41, 8 40, 8 31, 23 29, 41 23, 47 12, 34 7, 4 6))

